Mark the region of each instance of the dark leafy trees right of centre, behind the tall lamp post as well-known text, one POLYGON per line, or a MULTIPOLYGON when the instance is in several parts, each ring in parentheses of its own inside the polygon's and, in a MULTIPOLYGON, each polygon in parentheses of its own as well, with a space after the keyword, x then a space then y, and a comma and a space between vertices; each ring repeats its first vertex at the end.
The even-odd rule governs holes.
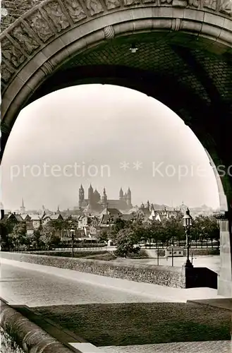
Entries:
MULTIPOLYGON (((198 216, 193 220, 190 232, 190 240, 197 243, 203 241, 217 241, 219 244, 220 229, 213 216, 198 216)), ((106 230, 99 234, 100 241, 111 239, 117 245, 117 252, 123 256, 140 250, 142 241, 147 244, 155 243, 161 246, 169 244, 183 244, 185 241, 185 230, 183 228, 183 215, 159 222, 143 222, 142 217, 126 221, 120 217, 106 230)))

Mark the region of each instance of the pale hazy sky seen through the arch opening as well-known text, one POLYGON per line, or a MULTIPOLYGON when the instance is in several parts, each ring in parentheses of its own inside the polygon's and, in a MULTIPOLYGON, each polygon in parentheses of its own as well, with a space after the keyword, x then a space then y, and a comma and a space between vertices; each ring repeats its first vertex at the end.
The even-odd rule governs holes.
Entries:
POLYGON ((193 131, 138 91, 79 85, 25 107, 1 164, 4 208, 61 210, 92 187, 109 199, 130 187, 133 205, 219 207, 214 172, 193 131))

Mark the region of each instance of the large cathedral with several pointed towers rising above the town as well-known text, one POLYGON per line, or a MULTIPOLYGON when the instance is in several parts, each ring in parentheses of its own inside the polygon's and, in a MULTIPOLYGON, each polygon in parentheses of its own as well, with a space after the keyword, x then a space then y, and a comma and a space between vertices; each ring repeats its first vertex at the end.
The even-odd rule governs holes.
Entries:
POLYGON ((133 208, 131 203, 131 191, 128 188, 126 193, 123 193, 123 189, 121 188, 119 191, 118 200, 110 200, 107 197, 106 189, 103 189, 102 196, 97 191, 97 189, 92 189, 92 185, 87 191, 87 198, 85 198, 85 190, 83 186, 80 186, 79 189, 79 209, 80 210, 89 210, 95 212, 102 212, 104 208, 116 208, 121 212, 125 212, 133 208))

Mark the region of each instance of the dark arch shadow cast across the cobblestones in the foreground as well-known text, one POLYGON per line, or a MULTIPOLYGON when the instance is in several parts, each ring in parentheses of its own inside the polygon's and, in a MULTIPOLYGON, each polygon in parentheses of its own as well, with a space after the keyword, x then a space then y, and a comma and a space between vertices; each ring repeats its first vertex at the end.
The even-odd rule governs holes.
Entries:
POLYGON ((231 312, 193 303, 84 304, 32 308, 96 346, 231 339, 231 312))

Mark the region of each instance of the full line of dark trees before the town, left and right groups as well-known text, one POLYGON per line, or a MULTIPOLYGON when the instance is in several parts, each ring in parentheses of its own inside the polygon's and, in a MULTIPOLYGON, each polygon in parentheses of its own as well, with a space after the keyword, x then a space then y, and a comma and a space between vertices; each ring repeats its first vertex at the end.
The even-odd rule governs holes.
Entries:
MULTIPOLYGON (((71 217, 67 220, 48 222, 43 227, 27 234, 25 222, 15 224, 9 220, 0 222, 1 249, 49 249, 61 244, 62 232, 70 232, 71 228, 78 229, 78 221, 71 217)), ((75 237, 80 237, 75 230, 75 237)), ((110 222, 109 227, 99 232, 100 243, 111 239, 117 245, 118 253, 126 256, 129 252, 138 251, 142 241, 146 244, 169 246, 169 244, 183 244, 185 231, 183 229, 183 215, 159 222, 157 220, 144 222, 143 218, 133 217, 132 220, 123 220, 118 217, 110 222)), ((195 242, 219 241, 219 226, 213 216, 199 216, 193 220, 190 239, 195 242)))

